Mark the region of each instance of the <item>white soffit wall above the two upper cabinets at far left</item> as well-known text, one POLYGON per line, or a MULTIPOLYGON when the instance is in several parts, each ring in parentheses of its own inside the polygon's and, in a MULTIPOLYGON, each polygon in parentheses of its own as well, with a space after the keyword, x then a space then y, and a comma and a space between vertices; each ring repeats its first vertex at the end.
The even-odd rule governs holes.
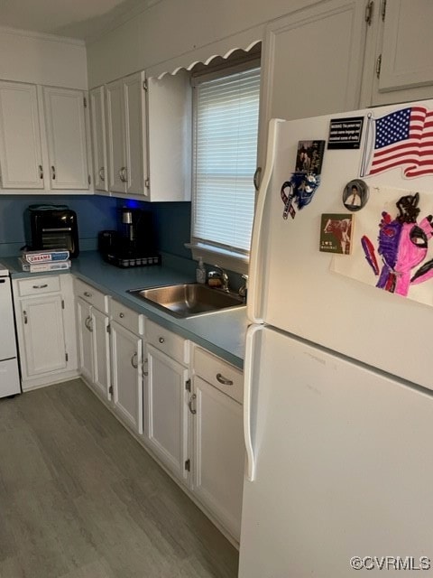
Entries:
POLYGON ((87 89, 84 42, 0 28, 0 79, 87 89))

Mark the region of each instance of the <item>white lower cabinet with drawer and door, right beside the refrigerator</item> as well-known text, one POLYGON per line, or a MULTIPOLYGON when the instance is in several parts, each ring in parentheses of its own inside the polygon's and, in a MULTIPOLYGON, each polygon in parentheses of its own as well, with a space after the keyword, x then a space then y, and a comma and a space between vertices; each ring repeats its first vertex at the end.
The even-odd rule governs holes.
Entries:
POLYGON ((243 408, 235 397, 243 386, 242 373, 198 348, 194 371, 192 490, 229 534, 239 540, 245 449, 243 408), (205 375, 200 377, 198 373, 205 375))

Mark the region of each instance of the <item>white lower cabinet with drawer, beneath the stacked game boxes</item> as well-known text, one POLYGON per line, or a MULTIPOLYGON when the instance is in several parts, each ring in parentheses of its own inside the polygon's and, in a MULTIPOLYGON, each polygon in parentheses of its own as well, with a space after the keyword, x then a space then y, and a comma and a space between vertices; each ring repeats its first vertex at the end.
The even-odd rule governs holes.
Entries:
POLYGON ((70 275, 15 279, 13 288, 23 390, 77 375, 70 275))

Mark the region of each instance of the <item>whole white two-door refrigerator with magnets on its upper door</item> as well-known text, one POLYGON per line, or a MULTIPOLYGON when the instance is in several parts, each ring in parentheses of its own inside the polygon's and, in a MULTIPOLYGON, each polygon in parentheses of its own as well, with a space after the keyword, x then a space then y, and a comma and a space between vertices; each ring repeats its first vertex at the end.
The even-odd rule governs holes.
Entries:
MULTIPOLYGON (((370 573, 433 573, 433 309, 336 274, 318 250, 321 214, 348 212, 366 124, 359 151, 325 150, 314 199, 282 218, 299 141, 327 140, 331 118, 401 107, 271 121, 247 305, 240 578, 345 578, 354 556, 370 573)), ((433 199, 432 175, 364 181, 371 195, 433 199)))

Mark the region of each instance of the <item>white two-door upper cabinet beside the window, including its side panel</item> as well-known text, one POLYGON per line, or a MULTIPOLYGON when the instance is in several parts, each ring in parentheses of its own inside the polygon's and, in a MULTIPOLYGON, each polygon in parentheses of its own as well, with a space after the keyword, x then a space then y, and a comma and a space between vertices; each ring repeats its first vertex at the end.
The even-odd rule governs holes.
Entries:
MULTIPOLYGON (((190 200, 191 88, 186 70, 148 80, 139 72, 110 82, 106 121, 110 192, 152 201, 190 200)), ((96 150, 94 123, 92 131, 96 150)))

